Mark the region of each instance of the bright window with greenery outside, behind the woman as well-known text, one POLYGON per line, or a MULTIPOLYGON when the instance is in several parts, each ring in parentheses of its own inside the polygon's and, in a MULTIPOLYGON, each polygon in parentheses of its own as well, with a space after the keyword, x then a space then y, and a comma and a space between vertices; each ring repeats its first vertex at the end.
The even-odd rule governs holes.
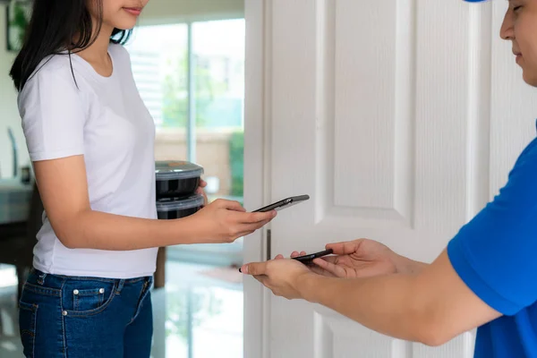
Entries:
POLYGON ((126 47, 157 160, 196 162, 210 200, 242 201, 244 20, 143 26, 126 47))

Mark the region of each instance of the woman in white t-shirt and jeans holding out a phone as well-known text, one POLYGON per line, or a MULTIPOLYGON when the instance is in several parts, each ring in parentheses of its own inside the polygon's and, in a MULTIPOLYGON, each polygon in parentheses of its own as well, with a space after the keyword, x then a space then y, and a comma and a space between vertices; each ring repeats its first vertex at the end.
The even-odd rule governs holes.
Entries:
POLYGON ((47 214, 21 294, 28 357, 149 357, 157 248, 231 243, 276 215, 217 200, 156 219, 155 128, 122 46, 147 3, 36 1, 14 61, 47 214))

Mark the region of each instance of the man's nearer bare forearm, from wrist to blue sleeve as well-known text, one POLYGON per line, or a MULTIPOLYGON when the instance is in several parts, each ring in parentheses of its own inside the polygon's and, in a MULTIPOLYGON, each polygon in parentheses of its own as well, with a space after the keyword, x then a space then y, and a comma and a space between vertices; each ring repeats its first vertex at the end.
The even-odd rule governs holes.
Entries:
POLYGON ((422 268, 418 275, 360 279, 300 275, 296 287, 311 303, 388 336, 425 345, 442 345, 501 315, 465 286, 447 251, 431 265, 422 265, 415 267, 422 268))

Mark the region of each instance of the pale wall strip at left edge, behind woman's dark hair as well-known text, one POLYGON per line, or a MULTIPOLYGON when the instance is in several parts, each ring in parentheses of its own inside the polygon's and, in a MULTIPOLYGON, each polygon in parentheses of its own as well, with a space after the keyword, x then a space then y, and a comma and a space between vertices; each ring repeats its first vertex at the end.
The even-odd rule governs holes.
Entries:
POLYGON ((17 109, 17 92, 9 77, 15 54, 8 53, 5 44, 5 5, 0 5, 0 175, 12 175, 13 160, 11 142, 7 136, 7 127, 12 127, 19 146, 19 165, 26 163, 28 152, 21 129, 21 119, 17 109))

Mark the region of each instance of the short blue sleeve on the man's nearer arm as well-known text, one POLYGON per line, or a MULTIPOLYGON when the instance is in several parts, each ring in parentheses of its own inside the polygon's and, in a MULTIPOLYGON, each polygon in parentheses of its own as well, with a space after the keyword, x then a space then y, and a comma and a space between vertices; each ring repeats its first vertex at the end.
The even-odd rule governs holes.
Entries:
POLYGON ((537 149, 524 150, 507 184, 447 245, 465 284, 504 315, 537 301, 537 149))

